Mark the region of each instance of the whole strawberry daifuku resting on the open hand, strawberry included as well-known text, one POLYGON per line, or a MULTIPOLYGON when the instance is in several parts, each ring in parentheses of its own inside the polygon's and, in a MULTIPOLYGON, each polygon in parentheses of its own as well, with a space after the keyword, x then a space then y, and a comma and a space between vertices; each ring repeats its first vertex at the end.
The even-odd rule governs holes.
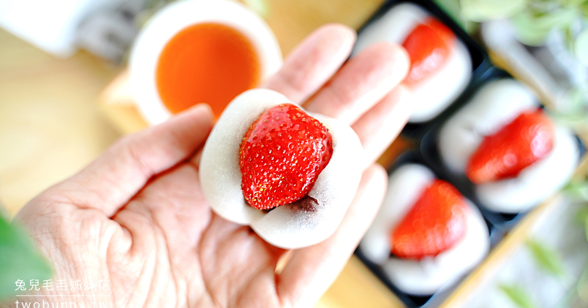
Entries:
POLYGON ((199 171, 216 214, 250 226, 274 246, 296 249, 335 232, 355 196, 362 161, 349 125, 255 89, 220 115, 199 171))

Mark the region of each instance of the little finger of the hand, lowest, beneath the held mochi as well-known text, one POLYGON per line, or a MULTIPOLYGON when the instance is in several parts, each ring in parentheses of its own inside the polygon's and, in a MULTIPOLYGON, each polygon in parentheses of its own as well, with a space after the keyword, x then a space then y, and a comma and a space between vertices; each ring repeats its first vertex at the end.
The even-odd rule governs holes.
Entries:
POLYGON ((338 276, 358 246, 382 202, 386 173, 372 165, 335 234, 315 246, 295 250, 278 276, 277 292, 292 306, 312 307, 338 276))

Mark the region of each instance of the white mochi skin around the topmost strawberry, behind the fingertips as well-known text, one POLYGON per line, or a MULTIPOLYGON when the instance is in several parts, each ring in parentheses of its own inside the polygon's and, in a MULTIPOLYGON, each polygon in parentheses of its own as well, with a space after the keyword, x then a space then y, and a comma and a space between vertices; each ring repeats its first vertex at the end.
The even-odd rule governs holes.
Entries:
MULTIPOLYGON (((358 54, 375 42, 402 44, 405 38, 429 14, 414 4, 399 4, 363 29, 353 50, 358 54)), ((465 45, 455 40, 446 64, 412 87, 415 110, 409 122, 425 122, 440 114, 467 87, 472 60, 465 45)))

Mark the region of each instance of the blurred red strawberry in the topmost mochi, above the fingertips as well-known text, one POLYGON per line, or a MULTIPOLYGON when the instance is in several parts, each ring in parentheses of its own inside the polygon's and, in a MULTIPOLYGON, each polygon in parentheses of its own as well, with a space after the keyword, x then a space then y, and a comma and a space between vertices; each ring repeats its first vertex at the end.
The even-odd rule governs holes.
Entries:
POLYGON ((455 34, 435 18, 417 25, 402 43, 412 62, 405 82, 416 84, 438 71, 449 58, 454 40, 455 34))

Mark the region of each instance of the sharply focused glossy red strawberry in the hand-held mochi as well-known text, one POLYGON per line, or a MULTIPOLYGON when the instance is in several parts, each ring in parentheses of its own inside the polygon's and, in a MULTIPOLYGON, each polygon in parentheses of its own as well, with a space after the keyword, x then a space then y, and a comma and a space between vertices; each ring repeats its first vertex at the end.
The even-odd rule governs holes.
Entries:
POLYGON ((243 137, 239 151, 241 189, 259 210, 306 196, 329 163, 328 130, 292 104, 263 112, 243 137))

